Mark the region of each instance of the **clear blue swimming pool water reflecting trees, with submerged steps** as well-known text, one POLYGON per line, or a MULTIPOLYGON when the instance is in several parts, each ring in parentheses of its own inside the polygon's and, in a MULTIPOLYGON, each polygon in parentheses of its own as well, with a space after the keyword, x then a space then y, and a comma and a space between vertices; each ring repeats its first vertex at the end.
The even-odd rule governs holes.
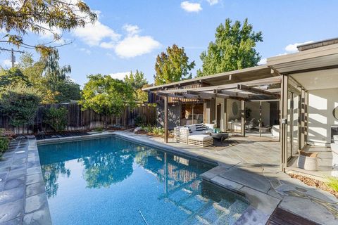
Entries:
POLYGON ((115 136, 42 145, 39 157, 53 224, 233 224, 248 207, 201 180, 211 165, 115 136))

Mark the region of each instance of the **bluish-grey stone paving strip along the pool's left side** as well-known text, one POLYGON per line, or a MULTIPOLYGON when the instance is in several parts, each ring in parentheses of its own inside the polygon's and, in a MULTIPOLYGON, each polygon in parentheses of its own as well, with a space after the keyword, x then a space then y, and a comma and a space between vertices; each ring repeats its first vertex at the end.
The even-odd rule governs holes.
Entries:
POLYGON ((34 136, 11 141, 0 179, 0 225, 51 224, 34 136))

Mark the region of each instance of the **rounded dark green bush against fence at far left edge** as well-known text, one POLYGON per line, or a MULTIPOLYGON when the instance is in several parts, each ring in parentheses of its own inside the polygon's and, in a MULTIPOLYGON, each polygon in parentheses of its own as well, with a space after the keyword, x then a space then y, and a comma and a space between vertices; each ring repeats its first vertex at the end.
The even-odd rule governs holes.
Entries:
POLYGON ((32 123, 40 102, 39 92, 23 84, 6 86, 0 92, 0 111, 14 127, 32 123))

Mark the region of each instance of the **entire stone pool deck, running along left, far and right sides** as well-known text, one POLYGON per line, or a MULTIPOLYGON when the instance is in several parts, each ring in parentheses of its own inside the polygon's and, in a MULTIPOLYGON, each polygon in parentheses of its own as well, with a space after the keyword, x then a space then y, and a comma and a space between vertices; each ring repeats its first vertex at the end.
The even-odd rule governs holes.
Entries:
POLYGON ((245 195, 251 203, 237 224, 266 224, 276 209, 292 212, 318 224, 338 224, 337 198, 280 172, 280 143, 270 137, 232 137, 237 141, 236 145, 215 150, 173 141, 163 143, 163 139, 154 136, 115 131, 42 141, 28 136, 27 139, 12 141, 10 149, 4 154, 4 161, 0 161, 0 225, 51 224, 37 143, 90 139, 111 134, 196 160, 216 163, 217 167, 201 175, 203 179, 245 195))

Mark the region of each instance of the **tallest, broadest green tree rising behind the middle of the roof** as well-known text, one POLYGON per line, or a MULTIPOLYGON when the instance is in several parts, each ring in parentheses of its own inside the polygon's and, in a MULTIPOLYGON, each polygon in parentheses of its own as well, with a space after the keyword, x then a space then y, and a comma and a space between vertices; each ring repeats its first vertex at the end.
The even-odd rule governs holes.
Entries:
POLYGON ((215 42, 210 42, 208 51, 201 53, 202 70, 197 77, 220 72, 239 70, 257 65, 261 56, 256 52, 256 43, 263 41, 262 32, 254 32, 248 19, 232 25, 230 19, 220 24, 215 33, 215 42))

